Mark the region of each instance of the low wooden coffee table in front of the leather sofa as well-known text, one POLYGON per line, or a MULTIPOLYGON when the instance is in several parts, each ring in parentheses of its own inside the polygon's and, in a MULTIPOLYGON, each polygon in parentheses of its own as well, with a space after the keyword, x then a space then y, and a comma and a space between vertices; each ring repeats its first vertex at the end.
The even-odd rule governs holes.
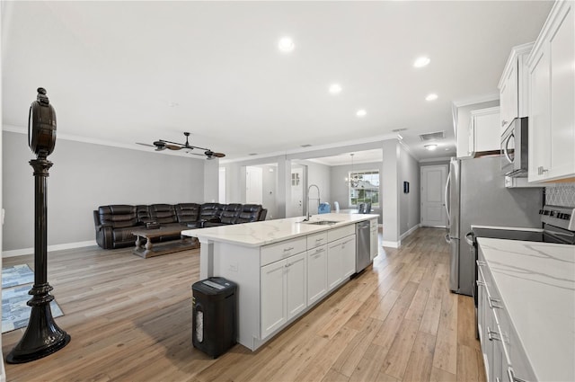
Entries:
POLYGON ((164 243, 152 243, 152 239, 162 236, 178 235, 185 227, 160 227, 155 229, 136 229, 132 235, 136 236, 134 253, 143 258, 159 256, 166 253, 187 251, 199 248, 199 241, 195 237, 182 236, 181 240, 171 240, 164 243), (144 244, 146 243, 146 244, 144 244))

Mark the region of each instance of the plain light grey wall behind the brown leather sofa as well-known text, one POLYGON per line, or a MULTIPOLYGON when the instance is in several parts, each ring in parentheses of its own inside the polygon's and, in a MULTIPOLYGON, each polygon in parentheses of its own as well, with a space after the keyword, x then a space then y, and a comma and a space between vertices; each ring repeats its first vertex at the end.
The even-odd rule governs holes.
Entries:
MULTIPOLYGON (((34 178, 28 162, 35 155, 25 134, 7 131, 2 155, 3 251, 33 248, 34 178)), ((207 201, 202 159, 57 139, 49 160, 49 245, 95 241, 93 209, 101 205, 207 201)))

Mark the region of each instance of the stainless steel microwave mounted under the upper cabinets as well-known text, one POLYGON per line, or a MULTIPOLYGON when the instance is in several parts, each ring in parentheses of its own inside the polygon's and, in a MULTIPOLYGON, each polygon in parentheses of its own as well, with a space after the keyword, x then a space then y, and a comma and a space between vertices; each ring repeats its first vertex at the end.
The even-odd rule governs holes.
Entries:
POLYGON ((516 118, 501 136, 501 173, 506 176, 527 176, 527 118, 516 118))

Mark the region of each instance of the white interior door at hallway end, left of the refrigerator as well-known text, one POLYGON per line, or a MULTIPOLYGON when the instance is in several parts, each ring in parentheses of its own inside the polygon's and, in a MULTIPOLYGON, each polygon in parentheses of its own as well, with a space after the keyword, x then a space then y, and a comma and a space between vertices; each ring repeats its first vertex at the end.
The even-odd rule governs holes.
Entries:
POLYGON ((421 226, 446 227, 447 165, 421 167, 421 226))

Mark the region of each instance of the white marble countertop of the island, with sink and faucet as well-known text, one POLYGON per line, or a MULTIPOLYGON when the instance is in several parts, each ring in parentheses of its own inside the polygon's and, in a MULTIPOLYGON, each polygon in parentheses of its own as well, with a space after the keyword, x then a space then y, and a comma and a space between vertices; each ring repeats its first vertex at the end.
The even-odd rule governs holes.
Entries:
POLYGON ((310 218, 311 222, 318 220, 331 220, 338 222, 332 226, 305 224, 302 222, 304 218, 305 217, 282 218, 230 226, 188 229, 181 231, 181 235, 198 237, 200 242, 209 240, 256 247, 277 243, 282 240, 288 240, 299 236, 316 234, 333 228, 358 223, 359 221, 379 218, 379 216, 357 213, 330 213, 313 215, 310 218))

